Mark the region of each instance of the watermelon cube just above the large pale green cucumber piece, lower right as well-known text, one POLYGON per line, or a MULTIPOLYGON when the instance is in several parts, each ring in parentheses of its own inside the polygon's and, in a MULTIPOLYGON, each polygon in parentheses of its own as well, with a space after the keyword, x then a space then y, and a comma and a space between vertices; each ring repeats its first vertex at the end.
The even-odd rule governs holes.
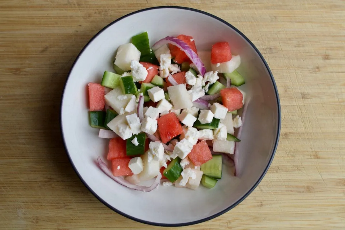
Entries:
POLYGON ((188 157, 195 166, 201 166, 201 164, 212 159, 212 154, 206 141, 201 141, 193 147, 188 157))

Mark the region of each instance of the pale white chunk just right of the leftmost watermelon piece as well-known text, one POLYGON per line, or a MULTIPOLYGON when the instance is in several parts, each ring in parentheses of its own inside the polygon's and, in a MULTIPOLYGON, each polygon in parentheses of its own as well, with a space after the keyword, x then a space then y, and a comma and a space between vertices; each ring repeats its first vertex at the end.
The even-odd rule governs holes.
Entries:
POLYGON ((107 93, 104 96, 104 98, 105 98, 106 103, 111 108, 113 108, 118 114, 120 114, 121 109, 123 110, 127 106, 132 96, 134 95, 133 94, 124 95, 124 93, 122 93, 121 87, 116 87, 115 89, 107 93))

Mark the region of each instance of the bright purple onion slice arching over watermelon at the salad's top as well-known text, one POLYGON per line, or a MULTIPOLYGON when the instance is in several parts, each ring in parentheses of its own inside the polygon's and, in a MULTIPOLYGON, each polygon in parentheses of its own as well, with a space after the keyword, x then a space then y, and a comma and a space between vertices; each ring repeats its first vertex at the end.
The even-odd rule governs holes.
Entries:
POLYGON ((182 51, 184 51, 187 55, 187 57, 195 64, 196 68, 198 69, 199 73, 201 74, 201 76, 204 76, 205 72, 206 72, 206 67, 204 66, 203 61, 201 61, 201 59, 199 58, 198 54, 196 54, 194 52, 194 50, 192 50, 187 43, 185 43, 184 41, 181 41, 178 38, 175 37, 165 37, 163 39, 160 39, 159 41, 157 41, 153 46, 152 46, 152 50, 157 50, 158 48, 160 48, 161 46, 163 46, 164 44, 173 44, 174 46, 177 46, 178 48, 180 48, 182 51))

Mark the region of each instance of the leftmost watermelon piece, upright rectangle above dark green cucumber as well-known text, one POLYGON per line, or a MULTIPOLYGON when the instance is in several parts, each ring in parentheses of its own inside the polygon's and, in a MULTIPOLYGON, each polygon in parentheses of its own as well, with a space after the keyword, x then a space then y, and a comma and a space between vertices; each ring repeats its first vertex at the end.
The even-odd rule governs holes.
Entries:
POLYGON ((104 109, 104 87, 97 83, 89 83, 88 88, 90 111, 104 109))

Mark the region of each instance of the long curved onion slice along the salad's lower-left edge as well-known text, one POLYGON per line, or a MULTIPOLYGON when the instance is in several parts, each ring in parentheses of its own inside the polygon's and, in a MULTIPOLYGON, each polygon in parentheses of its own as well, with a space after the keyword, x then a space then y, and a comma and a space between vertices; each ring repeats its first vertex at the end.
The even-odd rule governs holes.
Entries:
POLYGON ((138 190, 138 191, 142 191, 142 192, 150 192, 152 190, 154 190, 155 188, 157 188, 157 186, 160 183, 160 179, 162 178, 162 174, 158 173, 155 182, 153 182, 153 184, 150 187, 146 187, 146 186, 140 186, 140 185, 136 185, 136 184, 132 184, 129 183, 127 180, 125 180, 122 177, 114 177, 114 175, 111 173, 111 171, 108 169, 107 164, 104 163, 100 157, 97 158, 97 163, 99 168, 108 175, 108 177, 110 177, 111 179, 115 180, 116 182, 118 182, 119 184, 130 188, 130 189, 134 189, 134 190, 138 190))

